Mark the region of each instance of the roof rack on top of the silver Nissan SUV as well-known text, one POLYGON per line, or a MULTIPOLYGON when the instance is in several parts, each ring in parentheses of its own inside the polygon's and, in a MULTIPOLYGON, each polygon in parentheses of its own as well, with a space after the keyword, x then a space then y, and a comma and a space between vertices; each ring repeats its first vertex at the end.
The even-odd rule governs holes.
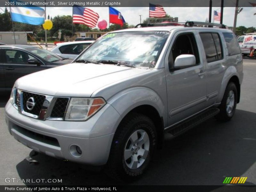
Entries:
POLYGON ((134 28, 140 27, 157 27, 157 26, 184 26, 184 27, 193 27, 193 26, 207 26, 207 27, 220 27, 226 28, 223 24, 217 23, 207 23, 207 22, 199 22, 199 21, 186 21, 186 22, 169 22, 169 23, 139 23, 134 28))

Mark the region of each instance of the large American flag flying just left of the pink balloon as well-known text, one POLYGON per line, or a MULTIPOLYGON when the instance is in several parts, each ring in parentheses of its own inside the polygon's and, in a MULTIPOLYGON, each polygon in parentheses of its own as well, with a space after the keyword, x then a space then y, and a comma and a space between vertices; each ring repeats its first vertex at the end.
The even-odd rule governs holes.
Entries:
POLYGON ((98 13, 91 9, 73 6, 73 23, 95 27, 99 19, 98 13))

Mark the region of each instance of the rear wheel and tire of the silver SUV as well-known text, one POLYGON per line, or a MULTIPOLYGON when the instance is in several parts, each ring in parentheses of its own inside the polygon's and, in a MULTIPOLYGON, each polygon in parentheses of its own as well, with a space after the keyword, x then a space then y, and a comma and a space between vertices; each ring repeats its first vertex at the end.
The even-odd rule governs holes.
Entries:
POLYGON ((221 104, 219 106, 220 113, 217 119, 221 121, 229 121, 234 116, 237 103, 237 89, 233 82, 230 82, 225 90, 221 104))

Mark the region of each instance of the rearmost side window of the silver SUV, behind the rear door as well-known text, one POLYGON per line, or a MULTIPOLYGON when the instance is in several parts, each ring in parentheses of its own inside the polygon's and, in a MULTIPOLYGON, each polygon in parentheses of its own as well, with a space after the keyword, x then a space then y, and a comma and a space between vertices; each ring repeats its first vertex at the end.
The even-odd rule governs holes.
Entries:
POLYGON ((226 45, 228 47, 228 55, 231 56, 240 54, 241 50, 235 35, 233 33, 223 33, 223 35, 226 41, 226 45))

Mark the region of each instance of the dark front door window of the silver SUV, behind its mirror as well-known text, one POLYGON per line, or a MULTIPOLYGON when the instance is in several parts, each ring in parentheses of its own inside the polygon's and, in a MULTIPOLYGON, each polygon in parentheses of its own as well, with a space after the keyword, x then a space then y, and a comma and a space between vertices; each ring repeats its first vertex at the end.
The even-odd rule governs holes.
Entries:
POLYGON ((186 33, 179 35, 174 44, 172 45, 172 55, 169 55, 168 62, 175 61, 176 57, 182 54, 195 55, 196 64, 199 63, 198 49, 196 46, 196 40, 192 33, 186 33), (172 56, 172 58, 170 58, 172 56), (172 59, 172 61, 171 61, 172 59))

